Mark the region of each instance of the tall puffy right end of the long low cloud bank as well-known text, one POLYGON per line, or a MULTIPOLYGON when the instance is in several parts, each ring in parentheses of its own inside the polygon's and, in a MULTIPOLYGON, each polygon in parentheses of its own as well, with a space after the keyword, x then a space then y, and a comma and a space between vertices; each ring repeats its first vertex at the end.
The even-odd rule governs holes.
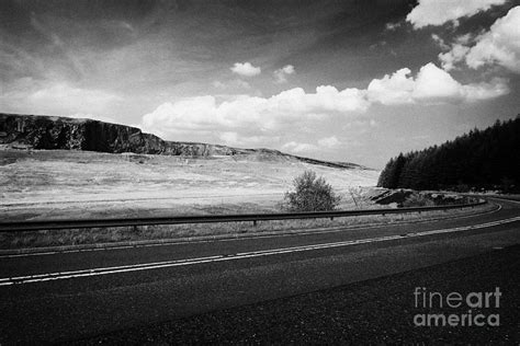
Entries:
POLYGON ((404 68, 392 76, 372 80, 368 88, 369 100, 385 105, 439 104, 487 100, 509 92, 502 79, 489 83, 461 84, 432 62, 421 67, 415 79, 408 77, 410 73, 409 69, 404 68))

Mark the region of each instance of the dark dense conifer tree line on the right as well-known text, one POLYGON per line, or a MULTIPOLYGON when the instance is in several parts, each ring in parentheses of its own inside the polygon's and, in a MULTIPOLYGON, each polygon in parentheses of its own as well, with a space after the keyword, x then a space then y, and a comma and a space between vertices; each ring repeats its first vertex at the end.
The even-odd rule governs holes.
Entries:
POLYGON ((520 189, 520 115, 474 129, 421 151, 400 153, 386 164, 377 186, 387 188, 520 189))

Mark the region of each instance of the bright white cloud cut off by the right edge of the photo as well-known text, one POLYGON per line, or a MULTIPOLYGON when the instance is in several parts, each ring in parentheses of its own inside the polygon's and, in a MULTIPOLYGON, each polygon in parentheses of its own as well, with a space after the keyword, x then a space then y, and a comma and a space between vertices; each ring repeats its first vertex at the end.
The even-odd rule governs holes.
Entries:
POLYGON ((520 73, 520 7, 509 10, 476 41, 466 55, 466 64, 471 68, 498 64, 520 73))

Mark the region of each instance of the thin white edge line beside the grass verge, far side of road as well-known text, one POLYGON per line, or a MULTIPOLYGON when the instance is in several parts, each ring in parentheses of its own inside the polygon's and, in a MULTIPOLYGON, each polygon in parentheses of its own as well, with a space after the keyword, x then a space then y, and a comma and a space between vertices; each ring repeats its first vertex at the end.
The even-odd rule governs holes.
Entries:
MULTIPOLYGON (((508 201, 511 201, 508 199, 508 201)), ((518 201, 515 201, 518 203, 518 201)), ((405 222, 396 222, 389 226, 399 226, 399 224, 415 224, 415 223, 427 223, 431 221, 442 221, 449 219, 465 219, 487 214, 494 214, 500 211, 502 209, 501 205, 498 205, 497 209, 488 210, 485 212, 476 214, 476 215, 463 215, 463 216, 454 216, 448 218, 433 218, 427 220, 419 220, 419 221, 405 221, 405 222)), ((388 227, 388 224, 372 224, 372 226, 364 226, 360 227, 362 229, 374 229, 374 228, 383 228, 388 227)), ((178 244, 200 244, 200 243, 210 243, 210 242, 230 242, 237 240, 246 240, 252 238, 279 238, 279 237, 294 237, 294 235, 307 235, 307 234, 323 234, 323 233, 337 233, 343 232, 346 230, 357 230, 358 228, 348 228, 344 226, 338 226, 335 228, 326 229, 326 230, 316 230, 316 231, 304 231, 304 232, 294 232, 294 233, 281 233, 281 234, 255 234, 250 237, 237 237, 237 238, 227 238, 227 239, 210 239, 210 240, 193 240, 190 242, 186 241, 171 241, 171 242, 163 242, 163 243, 155 243, 155 244, 135 244, 135 245, 121 245, 121 246, 106 246, 106 247, 93 247, 93 249, 77 249, 77 250, 63 250, 63 251, 45 251, 45 252, 35 252, 35 253, 22 253, 22 254, 12 254, 12 255, 0 255, 0 258, 13 258, 13 257, 30 257, 30 256, 44 256, 44 255, 56 255, 56 254, 64 254, 64 253, 80 253, 80 252, 91 252, 91 251, 110 251, 110 250, 123 250, 123 249, 133 249, 133 247, 155 247, 155 246, 171 246, 178 244)))

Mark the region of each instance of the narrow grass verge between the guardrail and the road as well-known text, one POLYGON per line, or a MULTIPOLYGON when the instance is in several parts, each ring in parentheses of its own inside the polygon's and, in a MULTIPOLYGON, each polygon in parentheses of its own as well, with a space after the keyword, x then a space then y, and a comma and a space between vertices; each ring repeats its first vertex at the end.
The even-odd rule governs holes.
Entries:
POLYGON ((396 224, 476 215, 491 211, 495 207, 493 204, 486 204, 474 208, 432 210, 421 214, 358 216, 335 218, 334 220, 302 219, 259 221, 257 226, 252 222, 222 222, 12 232, 0 234, 0 250, 131 241, 163 241, 197 237, 234 237, 237 234, 261 235, 294 231, 354 228, 371 224, 396 224))

